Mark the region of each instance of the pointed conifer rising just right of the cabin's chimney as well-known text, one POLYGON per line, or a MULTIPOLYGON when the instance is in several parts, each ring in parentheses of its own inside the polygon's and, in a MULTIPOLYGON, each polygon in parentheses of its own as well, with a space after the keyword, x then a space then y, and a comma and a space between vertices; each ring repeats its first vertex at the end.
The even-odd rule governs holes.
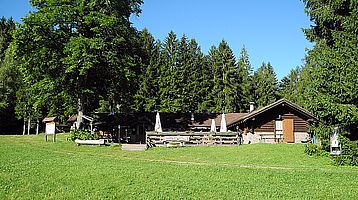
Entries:
POLYGON ((255 103, 258 107, 267 106, 277 100, 276 73, 270 63, 262 63, 253 76, 255 103))

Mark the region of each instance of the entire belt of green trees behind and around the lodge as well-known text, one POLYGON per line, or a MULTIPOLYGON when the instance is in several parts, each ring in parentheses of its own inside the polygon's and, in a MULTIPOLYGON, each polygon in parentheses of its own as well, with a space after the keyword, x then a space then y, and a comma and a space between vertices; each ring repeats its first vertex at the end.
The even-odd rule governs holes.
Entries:
POLYGON ((287 98, 320 119, 322 137, 333 126, 357 137, 356 1, 303 0, 314 47, 281 81, 270 62, 253 71, 245 47, 235 58, 222 40, 203 54, 194 38, 136 30, 142 3, 33 0, 21 24, 3 17, 0 132, 79 112, 247 112, 287 98))

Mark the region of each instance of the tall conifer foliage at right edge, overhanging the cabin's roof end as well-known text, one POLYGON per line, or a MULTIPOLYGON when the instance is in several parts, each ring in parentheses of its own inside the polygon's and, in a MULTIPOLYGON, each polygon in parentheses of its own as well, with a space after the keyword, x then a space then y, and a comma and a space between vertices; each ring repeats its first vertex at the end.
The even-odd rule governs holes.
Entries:
POLYGON ((302 104, 326 124, 339 124, 357 139, 358 4, 355 0, 304 0, 315 42, 302 69, 302 104))

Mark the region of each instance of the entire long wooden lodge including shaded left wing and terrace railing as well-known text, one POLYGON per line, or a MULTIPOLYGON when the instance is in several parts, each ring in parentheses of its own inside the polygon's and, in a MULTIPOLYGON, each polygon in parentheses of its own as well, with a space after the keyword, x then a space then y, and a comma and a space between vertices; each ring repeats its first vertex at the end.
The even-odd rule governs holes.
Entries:
POLYGON ((226 132, 220 132, 221 113, 160 113, 162 132, 155 132, 156 113, 94 113, 97 133, 121 143, 149 146, 301 143, 309 124, 317 120, 307 110, 281 99, 248 113, 226 113, 226 132), (211 130, 215 120, 215 131, 211 130))

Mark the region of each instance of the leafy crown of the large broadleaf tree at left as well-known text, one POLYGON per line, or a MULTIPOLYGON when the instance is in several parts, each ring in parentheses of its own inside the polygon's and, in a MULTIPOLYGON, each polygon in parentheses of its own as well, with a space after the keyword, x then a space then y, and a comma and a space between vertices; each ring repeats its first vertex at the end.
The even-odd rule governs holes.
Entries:
POLYGON ((18 115, 89 113, 100 100, 130 108, 139 60, 129 16, 141 3, 32 1, 36 11, 14 37, 26 94, 18 97, 18 115))

